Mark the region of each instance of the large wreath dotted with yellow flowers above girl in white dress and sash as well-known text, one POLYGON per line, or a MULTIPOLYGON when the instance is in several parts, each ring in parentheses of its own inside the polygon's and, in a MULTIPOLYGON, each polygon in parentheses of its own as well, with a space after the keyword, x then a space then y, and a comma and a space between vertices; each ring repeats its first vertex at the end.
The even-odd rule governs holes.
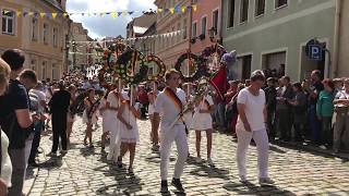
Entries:
POLYGON ((148 68, 144 63, 144 56, 139 50, 129 48, 119 57, 117 64, 112 70, 125 84, 134 85, 146 81, 148 68), (140 71, 132 75, 137 63, 141 65, 140 71))

